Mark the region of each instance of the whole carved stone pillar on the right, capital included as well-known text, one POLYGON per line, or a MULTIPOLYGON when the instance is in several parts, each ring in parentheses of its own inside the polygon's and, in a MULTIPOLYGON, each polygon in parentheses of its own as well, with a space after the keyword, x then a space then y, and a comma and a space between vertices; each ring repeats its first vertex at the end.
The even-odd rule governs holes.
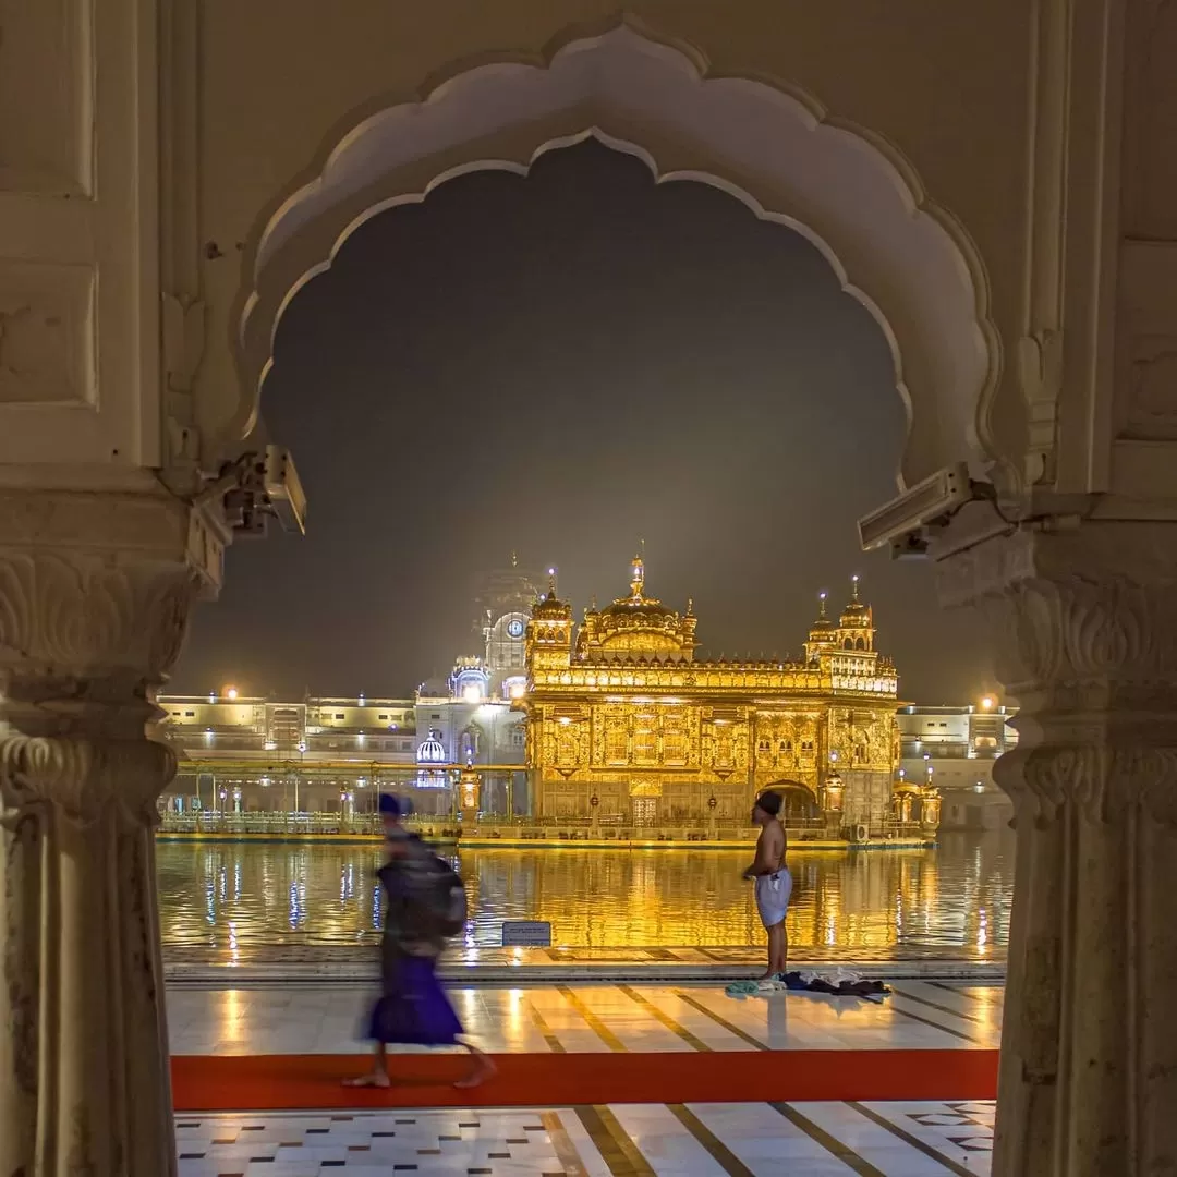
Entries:
POLYGON ((940 565, 993 624, 1019 744, 995 1177, 1177 1172, 1177 524, 940 565))

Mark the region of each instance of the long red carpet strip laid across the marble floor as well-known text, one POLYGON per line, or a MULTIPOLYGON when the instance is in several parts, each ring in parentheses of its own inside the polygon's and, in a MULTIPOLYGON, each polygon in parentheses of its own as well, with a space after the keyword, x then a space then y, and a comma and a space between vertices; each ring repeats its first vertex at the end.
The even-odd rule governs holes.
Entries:
POLYGON ((366 1055, 262 1055, 172 1059, 175 1110, 521 1108, 603 1103, 803 1099, 995 1099, 996 1050, 789 1050, 713 1053, 496 1055, 481 1088, 450 1084, 460 1055, 393 1056, 386 1091, 344 1088, 366 1055))

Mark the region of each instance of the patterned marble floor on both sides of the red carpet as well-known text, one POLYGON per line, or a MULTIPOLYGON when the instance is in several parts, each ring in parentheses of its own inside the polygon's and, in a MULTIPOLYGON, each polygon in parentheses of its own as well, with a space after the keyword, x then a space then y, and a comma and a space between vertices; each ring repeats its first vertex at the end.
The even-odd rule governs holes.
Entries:
MULTIPOLYGON (((492 1052, 982 1050, 999 985, 903 980, 882 1003, 816 993, 737 999, 718 985, 455 988, 492 1052)), ((359 1053, 352 986, 181 986, 177 1055, 359 1053)), ((411 1050, 411 1048, 410 1048, 411 1050)), ((657 1092, 651 1092, 657 1096, 657 1092)), ((995 1109, 935 1103, 610 1104, 352 1113, 185 1113, 180 1177, 940 1177, 988 1175, 995 1109)))

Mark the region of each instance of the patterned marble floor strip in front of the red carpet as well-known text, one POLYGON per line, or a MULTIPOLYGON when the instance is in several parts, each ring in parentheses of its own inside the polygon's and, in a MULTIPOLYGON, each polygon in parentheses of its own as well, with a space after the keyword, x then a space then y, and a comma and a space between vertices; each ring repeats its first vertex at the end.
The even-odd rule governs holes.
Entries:
POLYGON ((991 1103, 619 1104, 185 1117, 180 1177, 988 1175, 991 1103))

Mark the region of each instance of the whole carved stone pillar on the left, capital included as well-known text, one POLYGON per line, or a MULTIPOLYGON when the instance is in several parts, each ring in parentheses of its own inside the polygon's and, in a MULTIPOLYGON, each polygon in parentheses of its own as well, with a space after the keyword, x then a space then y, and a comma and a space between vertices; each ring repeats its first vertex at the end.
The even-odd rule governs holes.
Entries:
POLYGON ((0 490, 0 1172, 175 1172, 157 689, 219 563, 157 487, 0 490))

